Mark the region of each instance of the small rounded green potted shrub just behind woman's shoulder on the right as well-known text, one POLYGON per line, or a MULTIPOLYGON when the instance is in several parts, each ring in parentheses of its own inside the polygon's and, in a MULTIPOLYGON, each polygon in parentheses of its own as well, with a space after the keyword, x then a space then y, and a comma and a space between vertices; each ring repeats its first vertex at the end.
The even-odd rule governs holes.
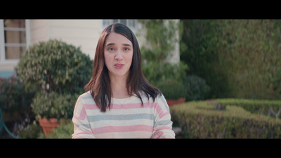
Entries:
POLYGON ((177 100, 185 97, 185 87, 179 81, 167 79, 157 84, 164 97, 170 100, 177 100))

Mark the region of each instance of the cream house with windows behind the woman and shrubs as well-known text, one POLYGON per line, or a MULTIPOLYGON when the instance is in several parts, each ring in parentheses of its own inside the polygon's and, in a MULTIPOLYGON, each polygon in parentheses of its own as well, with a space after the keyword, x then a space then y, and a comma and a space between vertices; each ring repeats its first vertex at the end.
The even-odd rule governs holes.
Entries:
MULTIPOLYGON (((59 39, 67 44, 80 46, 83 53, 93 59, 100 33, 107 25, 122 22, 137 36, 140 46, 145 44, 144 28, 138 20, 15 20, 0 19, 0 78, 15 73, 20 53, 39 41, 59 39)), ((179 62, 177 44, 171 62, 179 62)))

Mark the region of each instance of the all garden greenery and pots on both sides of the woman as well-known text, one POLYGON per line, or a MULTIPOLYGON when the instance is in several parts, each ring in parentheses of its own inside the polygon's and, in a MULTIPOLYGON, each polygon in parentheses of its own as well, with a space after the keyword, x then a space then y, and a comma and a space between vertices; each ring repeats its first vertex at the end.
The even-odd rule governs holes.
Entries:
MULTIPOLYGON (((176 138, 281 138, 281 20, 139 22, 149 44, 141 47, 143 72, 164 94, 176 138), (181 60, 173 64, 166 59, 176 42, 181 60)), ((30 46, 15 75, 0 79, 0 135, 71 138, 74 104, 92 70, 71 44, 30 46)))

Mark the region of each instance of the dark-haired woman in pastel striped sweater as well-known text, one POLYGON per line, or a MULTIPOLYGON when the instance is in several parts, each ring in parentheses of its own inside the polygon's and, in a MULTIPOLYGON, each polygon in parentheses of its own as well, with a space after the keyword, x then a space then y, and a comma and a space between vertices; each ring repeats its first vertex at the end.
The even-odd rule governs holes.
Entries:
POLYGON ((100 34, 91 80, 74 107, 72 138, 175 138, 169 106, 141 70, 141 51, 129 27, 100 34))

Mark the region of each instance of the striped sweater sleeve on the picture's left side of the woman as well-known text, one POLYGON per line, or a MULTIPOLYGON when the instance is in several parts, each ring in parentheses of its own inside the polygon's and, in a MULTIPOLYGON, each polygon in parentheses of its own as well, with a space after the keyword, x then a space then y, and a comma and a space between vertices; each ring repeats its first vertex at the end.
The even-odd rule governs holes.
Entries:
POLYGON ((75 104, 72 122, 74 124, 72 138, 95 138, 91 131, 91 125, 87 118, 81 96, 79 96, 75 104))

